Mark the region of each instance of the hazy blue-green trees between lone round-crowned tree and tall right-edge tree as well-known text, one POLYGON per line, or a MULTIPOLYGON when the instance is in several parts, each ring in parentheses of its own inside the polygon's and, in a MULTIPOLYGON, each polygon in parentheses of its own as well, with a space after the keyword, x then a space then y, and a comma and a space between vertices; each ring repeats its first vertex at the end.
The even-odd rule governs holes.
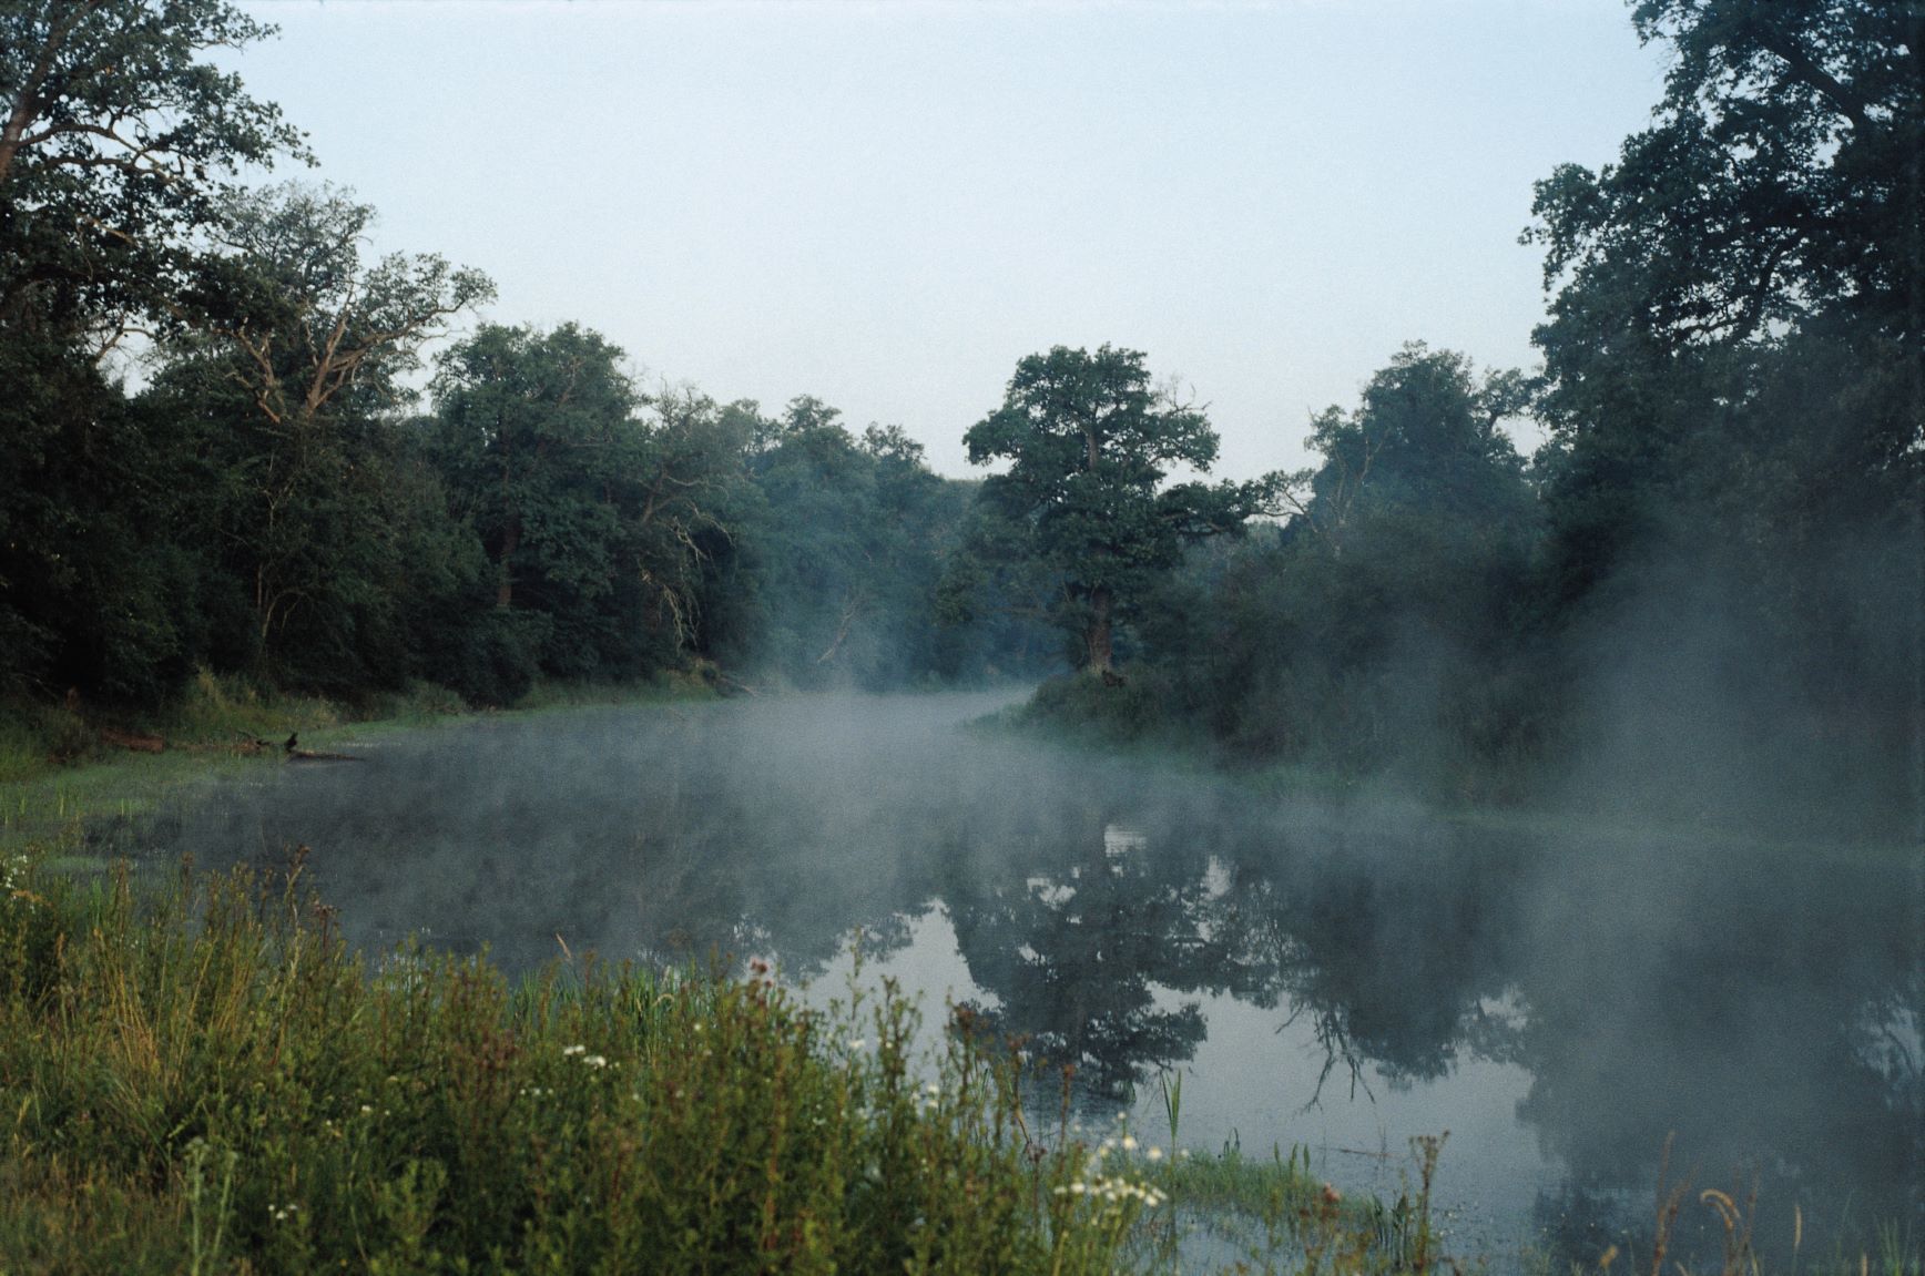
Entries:
POLYGON ((1515 393, 1509 373, 1478 381, 1463 356, 1411 345, 1357 410, 1319 414, 1324 462, 1292 479, 1296 518, 1197 547, 1153 595, 1161 712, 1240 754, 1498 795, 1538 743, 1536 510, 1498 427, 1515 393))

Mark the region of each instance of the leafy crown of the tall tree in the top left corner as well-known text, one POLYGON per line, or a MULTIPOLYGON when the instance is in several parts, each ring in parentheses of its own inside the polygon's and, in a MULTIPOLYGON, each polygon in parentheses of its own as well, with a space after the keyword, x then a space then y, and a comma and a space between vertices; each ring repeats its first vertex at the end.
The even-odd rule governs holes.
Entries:
POLYGON ((114 345, 166 314, 235 177, 306 158, 279 108, 204 60, 273 33, 223 0, 0 8, 0 321, 114 345))

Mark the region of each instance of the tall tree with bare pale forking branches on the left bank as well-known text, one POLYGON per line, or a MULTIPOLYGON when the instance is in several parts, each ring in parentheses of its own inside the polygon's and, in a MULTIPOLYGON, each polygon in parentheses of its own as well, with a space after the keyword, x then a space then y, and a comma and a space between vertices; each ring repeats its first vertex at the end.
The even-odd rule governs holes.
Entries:
MULTIPOLYGON (((179 302, 162 385, 206 418, 227 562, 246 581, 256 656, 314 654, 310 629, 348 624, 354 564, 383 527, 391 414, 412 398, 402 375, 422 346, 493 285, 443 258, 364 260, 373 210, 335 191, 275 187, 239 198, 218 227, 219 252, 179 302), (323 612, 339 620, 323 620, 323 612)), ((387 550, 377 558, 391 560, 387 550)), ((373 560, 368 560, 370 564, 373 560)), ((385 570, 383 570, 385 572, 385 570)), ((377 589, 360 591, 373 597, 377 589)), ((285 662, 283 662, 285 664, 285 662)), ((358 674, 346 674, 354 677, 358 674)))

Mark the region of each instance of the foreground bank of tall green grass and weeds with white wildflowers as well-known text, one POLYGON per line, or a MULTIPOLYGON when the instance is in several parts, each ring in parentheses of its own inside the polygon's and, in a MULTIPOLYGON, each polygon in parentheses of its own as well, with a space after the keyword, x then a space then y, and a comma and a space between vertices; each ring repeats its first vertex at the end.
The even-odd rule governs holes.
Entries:
POLYGON ((368 962, 298 868, 4 874, 0 1272, 1167 1270, 1226 1184, 1274 1266, 1432 1263, 1296 1164, 1045 1130, 1005 1047, 914 1060, 893 993, 368 962))

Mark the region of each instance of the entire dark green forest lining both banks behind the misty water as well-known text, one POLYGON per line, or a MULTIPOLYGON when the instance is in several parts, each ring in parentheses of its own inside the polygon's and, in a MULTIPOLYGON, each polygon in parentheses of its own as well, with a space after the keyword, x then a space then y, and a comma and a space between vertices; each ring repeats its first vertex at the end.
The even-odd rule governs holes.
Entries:
POLYGON ((807 395, 475 323, 483 273, 266 181, 314 158, 210 54, 268 27, 0 13, 12 712, 202 670, 510 704, 1072 668, 1034 712, 1455 799, 1917 808, 1925 6, 1634 4, 1663 100, 1538 183, 1542 368, 1411 343, 1317 466, 1215 483, 1205 410, 1120 346, 1024 358, 957 423, 966 483, 807 395))

